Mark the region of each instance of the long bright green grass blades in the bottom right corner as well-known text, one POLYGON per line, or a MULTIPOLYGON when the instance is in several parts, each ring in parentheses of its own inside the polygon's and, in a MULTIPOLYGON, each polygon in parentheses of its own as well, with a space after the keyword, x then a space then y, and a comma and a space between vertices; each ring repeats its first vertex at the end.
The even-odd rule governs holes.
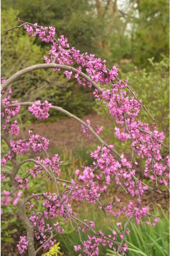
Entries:
MULTIPOLYGON (((169 214, 162 207, 156 207, 154 215, 160 216, 155 227, 148 226, 145 221, 141 221, 141 225, 129 224, 130 234, 125 241, 128 256, 169 256, 169 214)), ((107 256, 116 255, 111 250, 107 251, 107 256)))

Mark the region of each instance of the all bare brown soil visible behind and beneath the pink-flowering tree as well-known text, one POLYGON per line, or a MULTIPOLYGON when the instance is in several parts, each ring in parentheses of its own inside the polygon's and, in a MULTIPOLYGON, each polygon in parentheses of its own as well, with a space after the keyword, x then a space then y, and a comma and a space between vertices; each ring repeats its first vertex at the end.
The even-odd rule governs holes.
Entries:
MULTIPOLYGON (((109 119, 104 118, 102 116, 98 116, 97 114, 88 114, 81 118, 83 121, 86 122, 87 119, 91 120, 91 126, 95 129, 98 125, 104 125, 104 126, 110 126, 111 122, 109 119)), ((67 149, 74 149, 78 148, 79 146, 82 147, 90 147, 94 143, 97 143, 96 138, 92 135, 89 139, 86 137, 86 134, 82 133, 82 128, 80 123, 78 123, 76 120, 67 118, 67 119, 60 119, 53 123, 48 122, 39 122, 39 123, 32 123, 29 129, 33 130, 34 134, 40 134, 41 136, 44 136, 50 140, 50 147, 49 150, 51 152, 54 151, 54 149, 59 148, 61 151, 61 148, 65 147, 67 149)), ((114 130, 114 128, 113 128, 114 130)), ((21 138, 25 139, 28 138, 28 132, 27 129, 21 130, 21 138)), ((108 142, 109 138, 105 138, 105 141, 108 142)), ((35 154, 32 156, 35 157, 35 154)), ((119 191, 117 189, 116 191, 116 197, 121 198, 124 203, 128 202, 132 199, 130 195, 124 195, 122 191, 119 191)), ((145 196, 143 197, 143 203, 149 204, 150 207, 154 204, 161 205, 164 209, 167 210, 169 207, 169 196, 167 195, 160 195, 156 193, 155 191, 148 190, 145 196)), ((3 218, 2 218, 3 219, 3 218)), ((13 242, 7 243, 2 242, 1 243, 1 255, 2 256, 19 256, 19 252, 16 248, 16 244, 19 240, 19 236, 25 235, 25 231, 23 229, 18 230, 17 233, 13 235, 13 242), (24 234, 22 234, 24 232, 24 234)), ((41 255, 43 253, 42 251, 38 254, 41 255)), ((22 254, 23 256, 28 255, 27 253, 22 254)))

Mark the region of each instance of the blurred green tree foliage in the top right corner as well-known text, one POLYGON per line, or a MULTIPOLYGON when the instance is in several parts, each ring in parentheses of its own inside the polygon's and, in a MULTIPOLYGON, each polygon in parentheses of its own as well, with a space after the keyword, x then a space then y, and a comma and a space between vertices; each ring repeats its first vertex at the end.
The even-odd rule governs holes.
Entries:
POLYGON ((147 58, 161 60, 169 54, 169 0, 138 0, 138 18, 133 40, 133 61, 146 67, 147 58))

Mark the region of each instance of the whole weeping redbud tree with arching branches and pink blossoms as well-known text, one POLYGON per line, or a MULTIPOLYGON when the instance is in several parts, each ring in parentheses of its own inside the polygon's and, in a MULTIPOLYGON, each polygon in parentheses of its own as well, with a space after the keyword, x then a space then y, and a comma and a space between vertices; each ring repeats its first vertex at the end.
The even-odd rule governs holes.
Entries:
MULTIPOLYGON (((64 222, 71 225, 73 231, 79 234, 80 243, 74 245, 74 250, 76 252, 81 250, 80 256, 99 255, 100 244, 108 245, 116 255, 126 255, 128 246, 124 239, 129 234, 128 223, 134 218, 140 225, 140 218, 148 216, 149 206, 142 204, 145 191, 152 189, 159 194, 162 193, 161 188, 166 193, 169 191, 169 156, 161 155, 161 147, 165 147, 166 151, 169 150, 163 143, 164 133, 157 130, 156 121, 142 102, 137 99, 135 92, 129 87, 128 80, 118 79, 116 66, 109 70, 105 64, 106 60, 102 61, 88 53, 81 54, 75 47, 70 47, 64 35, 56 39, 54 27, 38 26, 36 23, 30 24, 20 19, 18 22, 20 25, 11 29, 23 27, 29 35, 39 37, 41 41, 51 44, 51 49, 49 55, 44 57, 46 63, 26 67, 11 75, 6 81, 4 78, 1 79, 1 139, 9 148, 8 153, 1 159, 1 182, 7 176, 10 178, 9 190, 3 190, 1 193, 1 214, 3 214, 3 208, 9 203, 18 207, 20 221, 27 229, 27 236, 20 236, 17 244, 20 254, 28 250, 28 255, 35 256, 42 248, 54 245, 56 234, 64 232, 62 224, 58 222, 59 218, 62 218, 64 222), (93 129, 90 120, 85 123, 77 116, 48 101, 11 100, 13 81, 17 81, 20 76, 28 72, 49 68, 54 72, 64 70, 68 80, 72 76, 80 86, 92 88, 94 97, 106 104, 110 115, 115 118, 117 124, 115 139, 118 139, 120 143, 130 141, 132 152, 130 158, 129 153, 126 155, 127 152, 117 152, 114 145, 104 142, 99 136, 103 127, 93 129), (105 89, 103 85, 112 87, 105 89), (43 134, 33 134, 32 130, 28 130, 28 138, 16 139, 20 132, 17 115, 22 106, 28 106, 28 111, 39 120, 48 118, 50 109, 61 111, 77 120, 82 126, 83 133, 86 133, 89 138, 93 134, 99 141, 99 146, 90 155, 94 159, 92 165, 82 166, 80 170, 75 170, 75 179, 61 179, 63 161, 57 153, 51 156, 48 154, 50 142, 43 137, 43 134), (139 116, 141 108, 148 112, 151 123, 141 122, 139 116), (26 153, 30 151, 44 152, 45 157, 27 158, 26 153), (20 155, 23 155, 25 159, 19 161, 20 155), (136 175, 137 159, 140 158, 145 161, 145 167, 141 172, 153 181, 152 187, 143 183, 136 175), (8 161, 11 161, 13 166, 11 171, 5 170, 8 161), (27 162, 32 162, 32 168, 19 175, 21 166, 27 162), (41 193, 33 193, 24 198, 22 192, 28 189, 31 176, 34 179, 41 177, 49 182, 53 181, 55 193, 41 191, 41 193), (111 203, 101 203, 103 192, 109 189, 113 181, 125 194, 132 196, 133 200, 126 203, 124 207, 119 206, 120 199, 113 200, 111 203), (63 188, 62 191, 59 185, 63 188), (44 210, 41 212, 35 210, 34 204, 37 200, 42 202, 44 210), (107 219, 108 226, 112 230, 109 235, 105 235, 101 229, 96 230, 94 220, 87 221, 87 219, 78 218, 71 203, 80 201, 83 206, 84 200, 95 204, 98 211, 103 211, 103 217, 107 219), (28 208, 29 212, 26 210, 28 208), (126 217, 124 226, 121 222, 116 223, 119 231, 114 228, 110 216, 126 217), (49 219, 55 219, 52 225, 51 221, 48 224, 49 219), (86 241, 82 240, 82 232, 88 232, 86 241), (39 248, 35 248, 34 240, 39 241, 39 248)), ((147 224, 154 226, 158 220, 154 216, 148 217, 147 224)))

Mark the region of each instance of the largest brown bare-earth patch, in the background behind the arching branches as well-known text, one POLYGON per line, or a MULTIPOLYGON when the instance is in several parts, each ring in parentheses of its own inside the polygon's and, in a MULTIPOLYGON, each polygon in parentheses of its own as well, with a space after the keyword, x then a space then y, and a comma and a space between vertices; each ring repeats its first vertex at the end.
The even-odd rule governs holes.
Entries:
MULTIPOLYGON (((81 118, 84 122, 87 119, 90 119, 91 126, 95 130, 96 126, 104 125, 105 127, 109 127, 111 122, 108 118, 104 118, 97 114, 87 114, 81 118)), ((89 147, 90 145, 97 142, 97 139, 91 135, 89 139, 87 134, 82 132, 81 124, 72 118, 65 118, 57 120, 53 123, 48 122, 39 122, 32 123, 29 129, 33 130, 34 134, 40 134, 41 136, 46 137, 50 140, 50 147, 52 148, 75 148, 79 145, 83 145, 85 147, 89 147)), ((25 131, 21 131, 21 137, 27 138, 28 133, 26 129, 25 131)), ((106 138, 106 142, 109 138, 106 138)))

